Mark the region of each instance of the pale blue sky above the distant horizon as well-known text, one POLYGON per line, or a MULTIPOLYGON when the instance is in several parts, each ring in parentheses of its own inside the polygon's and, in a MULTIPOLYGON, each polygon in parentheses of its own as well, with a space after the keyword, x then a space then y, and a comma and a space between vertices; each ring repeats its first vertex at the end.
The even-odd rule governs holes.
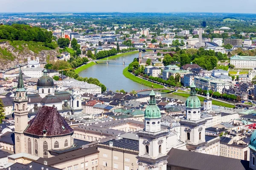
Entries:
POLYGON ((256 13, 256 0, 0 0, 3 12, 256 13))

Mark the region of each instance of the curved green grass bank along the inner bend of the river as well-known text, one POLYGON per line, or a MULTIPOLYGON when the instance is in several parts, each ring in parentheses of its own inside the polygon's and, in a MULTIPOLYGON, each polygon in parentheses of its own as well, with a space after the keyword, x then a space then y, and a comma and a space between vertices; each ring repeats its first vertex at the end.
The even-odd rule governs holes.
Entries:
MULTIPOLYGON (((152 82, 148 82, 147 80, 145 79, 141 79, 139 77, 136 77, 134 76, 133 74, 131 74, 129 71, 128 71, 128 67, 126 67, 124 70, 123 70, 123 75, 128 78, 128 79, 131 79, 132 81, 134 82, 137 82, 141 85, 145 85, 145 86, 148 86, 148 87, 151 87, 152 86, 152 82)), ((153 83, 154 85, 154 88, 164 88, 163 85, 158 85, 156 83, 153 83)))

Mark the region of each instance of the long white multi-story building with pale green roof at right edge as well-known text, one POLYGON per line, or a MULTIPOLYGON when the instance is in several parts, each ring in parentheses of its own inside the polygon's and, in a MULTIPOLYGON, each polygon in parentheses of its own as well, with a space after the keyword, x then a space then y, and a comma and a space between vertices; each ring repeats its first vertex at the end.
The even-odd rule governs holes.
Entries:
POLYGON ((234 55, 230 58, 230 64, 235 68, 256 68, 256 57, 234 55))

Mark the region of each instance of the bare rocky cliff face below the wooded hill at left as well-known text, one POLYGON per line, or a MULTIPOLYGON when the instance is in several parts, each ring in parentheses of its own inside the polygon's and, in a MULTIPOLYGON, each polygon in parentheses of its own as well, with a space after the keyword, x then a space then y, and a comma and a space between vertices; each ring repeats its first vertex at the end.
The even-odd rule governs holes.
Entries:
POLYGON ((20 51, 10 45, 8 41, 0 42, 0 50, 5 51, 5 55, 1 54, 0 51, 0 70, 26 63, 28 57, 31 57, 31 59, 39 57, 40 62, 46 62, 48 60, 53 60, 54 57, 58 55, 57 50, 42 50, 36 54, 26 46, 27 45, 23 45, 23 50, 20 51))

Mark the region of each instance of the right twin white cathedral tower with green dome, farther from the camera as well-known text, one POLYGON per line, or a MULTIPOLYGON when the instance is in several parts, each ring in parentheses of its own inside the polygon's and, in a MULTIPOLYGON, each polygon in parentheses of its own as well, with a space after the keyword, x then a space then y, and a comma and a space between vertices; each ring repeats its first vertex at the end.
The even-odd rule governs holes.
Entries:
POLYGON ((186 99, 186 118, 180 121, 180 140, 187 143, 188 150, 202 150, 205 143, 205 119, 201 118, 201 102, 196 96, 194 81, 186 99))

